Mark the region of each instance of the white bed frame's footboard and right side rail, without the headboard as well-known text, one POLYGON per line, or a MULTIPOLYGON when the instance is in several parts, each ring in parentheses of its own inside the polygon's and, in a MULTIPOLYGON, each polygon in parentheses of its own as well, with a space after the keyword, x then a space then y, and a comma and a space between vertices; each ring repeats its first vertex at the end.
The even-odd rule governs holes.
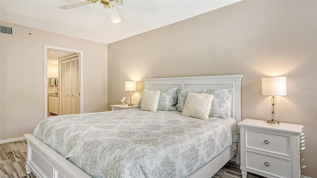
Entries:
MULTIPOLYGON (((24 137, 28 142, 25 165, 27 175, 32 172, 37 178, 91 178, 32 134, 25 134, 24 137)), ((232 147, 229 147, 189 177, 211 177, 233 156, 238 156, 237 153, 238 149, 232 150, 232 147)))

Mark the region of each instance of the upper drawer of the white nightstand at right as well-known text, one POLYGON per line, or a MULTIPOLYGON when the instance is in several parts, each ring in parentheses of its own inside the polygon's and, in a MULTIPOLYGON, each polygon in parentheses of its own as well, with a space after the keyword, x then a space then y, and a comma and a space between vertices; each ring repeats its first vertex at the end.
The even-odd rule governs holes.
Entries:
POLYGON ((245 130, 245 147, 292 157, 292 137, 252 129, 245 130))

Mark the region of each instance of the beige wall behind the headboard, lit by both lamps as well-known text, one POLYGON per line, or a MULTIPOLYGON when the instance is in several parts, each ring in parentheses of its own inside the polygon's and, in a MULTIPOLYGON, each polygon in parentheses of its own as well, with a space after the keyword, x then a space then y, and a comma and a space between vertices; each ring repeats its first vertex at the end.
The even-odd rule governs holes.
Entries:
MULTIPOLYGON (((276 118, 303 124, 302 175, 317 177, 317 1, 241 1, 108 45, 108 104, 124 81, 244 74, 242 119, 270 119, 261 77, 287 76, 276 118)), ((143 90, 134 92, 137 104, 143 90)), ((108 107, 109 109, 109 107, 108 107)))

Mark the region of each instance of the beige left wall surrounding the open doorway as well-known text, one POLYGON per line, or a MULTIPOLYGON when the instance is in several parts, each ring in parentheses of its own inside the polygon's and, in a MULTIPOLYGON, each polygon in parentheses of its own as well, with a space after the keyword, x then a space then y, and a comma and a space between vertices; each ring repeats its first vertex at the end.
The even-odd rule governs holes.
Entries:
POLYGON ((14 27, 0 35, 0 140, 33 133, 44 118, 44 45, 84 52, 84 113, 107 110, 107 45, 0 23, 14 27))

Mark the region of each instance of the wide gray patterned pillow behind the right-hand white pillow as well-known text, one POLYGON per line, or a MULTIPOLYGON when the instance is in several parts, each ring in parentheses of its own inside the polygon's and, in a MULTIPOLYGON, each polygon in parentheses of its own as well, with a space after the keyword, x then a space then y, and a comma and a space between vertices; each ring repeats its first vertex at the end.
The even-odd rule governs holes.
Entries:
POLYGON ((177 94, 177 105, 175 109, 182 112, 184 109, 187 94, 192 93, 207 93, 214 95, 211 104, 210 117, 216 117, 221 119, 227 119, 231 116, 231 101, 232 101, 232 88, 226 89, 195 89, 195 88, 178 88, 177 94))

